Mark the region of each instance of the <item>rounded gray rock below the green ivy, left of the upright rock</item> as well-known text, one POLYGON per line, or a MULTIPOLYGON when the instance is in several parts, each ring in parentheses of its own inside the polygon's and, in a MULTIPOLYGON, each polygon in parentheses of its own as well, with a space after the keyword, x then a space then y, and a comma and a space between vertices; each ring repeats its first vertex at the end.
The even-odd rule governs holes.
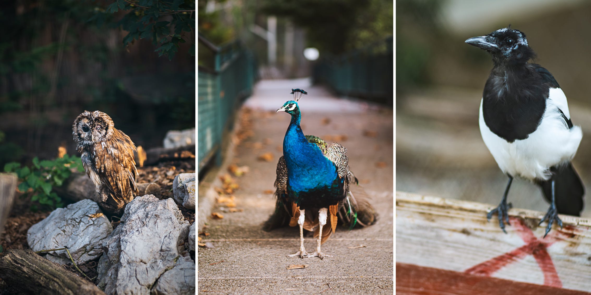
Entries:
MULTIPOLYGON (((98 258, 103 254, 103 241, 113 227, 105 215, 89 216, 97 213, 102 213, 99 205, 89 199, 55 209, 46 219, 29 228, 29 247, 33 251, 67 247, 76 263, 98 258)), ((66 250, 48 252, 46 258, 59 264, 70 263, 66 250)))

